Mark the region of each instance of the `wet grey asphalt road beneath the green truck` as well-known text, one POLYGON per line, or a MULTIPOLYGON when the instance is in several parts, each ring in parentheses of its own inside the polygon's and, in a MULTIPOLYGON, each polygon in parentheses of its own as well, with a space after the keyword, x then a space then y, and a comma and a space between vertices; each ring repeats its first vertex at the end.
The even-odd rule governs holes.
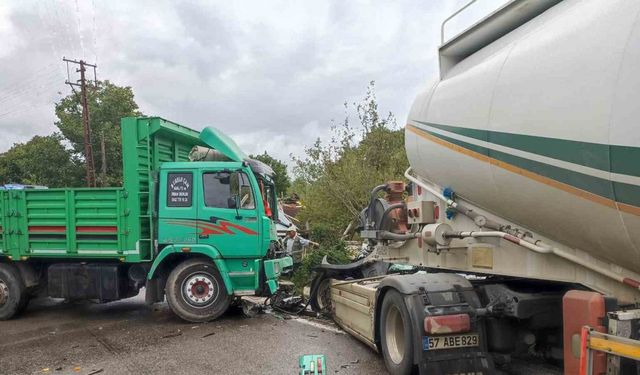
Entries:
POLYGON ((296 374, 324 354, 328 374, 386 374, 371 349, 329 325, 237 310, 190 324, 138 296, 109 304, 32 302, 0 322, 0 374, 296 374))

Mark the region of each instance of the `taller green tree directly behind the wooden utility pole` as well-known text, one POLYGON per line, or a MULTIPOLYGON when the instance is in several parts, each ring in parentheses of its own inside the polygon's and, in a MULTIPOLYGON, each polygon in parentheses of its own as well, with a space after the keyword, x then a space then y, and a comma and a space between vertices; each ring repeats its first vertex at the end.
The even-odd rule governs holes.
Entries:
MULTIPOLYGON (((141 116, 131 87, 114 85, 109 81, 98 81, 94 90, 89 89, 89 113, 91 144, 93 146, 96 178, 100 186, 122 184, 122 149, 120 119, 141 116), (101 152, 104 140, 105 155, 101 152), (106 163, 106 175, 100 171, 106 163)), ((77 155, 84 154, 84 128, 80 97, 70 94, 56 103, 56 126, 69 141, 77 155)))

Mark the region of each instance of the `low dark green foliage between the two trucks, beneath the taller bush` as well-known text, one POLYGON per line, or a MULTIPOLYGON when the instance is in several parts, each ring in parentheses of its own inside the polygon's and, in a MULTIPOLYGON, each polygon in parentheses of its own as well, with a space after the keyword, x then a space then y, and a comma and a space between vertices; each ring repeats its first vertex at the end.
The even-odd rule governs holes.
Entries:
POLYGON ((344 241, 333 235, 331 228, 321 225, 315 226, 311 230, 310 238, 321 244, 319 249, 309 249, 306 257, 302 260, 291 277, 298 293, 302 294, 302 289, 311 281, 313 267, 322 262, 322 258, 327 256, 329 263, 344 264, 351 261, 351 253, 344 241))

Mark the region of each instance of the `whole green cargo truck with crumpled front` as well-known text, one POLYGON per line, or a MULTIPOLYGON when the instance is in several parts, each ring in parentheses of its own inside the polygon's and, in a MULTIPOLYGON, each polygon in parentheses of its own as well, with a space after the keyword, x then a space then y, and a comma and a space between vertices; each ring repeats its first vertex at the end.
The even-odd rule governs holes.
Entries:
MULTIPOLYGON (((35 295, 115 301, 145 288, 209 321, 267 296, 292 266, 277 241, 273 171, 215 128, 124 118, 123 186, 0 191, 0 319, 35 295), (210 154, 193 161, 196 148, 210 154)), ((46 160, 43 160, 46 162, 46 160)))

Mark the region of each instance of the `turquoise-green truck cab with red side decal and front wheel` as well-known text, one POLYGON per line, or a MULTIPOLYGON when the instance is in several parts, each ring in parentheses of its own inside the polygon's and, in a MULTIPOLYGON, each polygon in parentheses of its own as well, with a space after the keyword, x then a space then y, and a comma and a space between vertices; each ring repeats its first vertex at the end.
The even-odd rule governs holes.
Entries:
MULTIPOLYGON (((216 298, 226 309, 233 297, 275 293, 281 272, 292 265, 278 251, 271 167, 248 158, 217 129, 204 129, 200 139, 215 149, 195 146, 191 161, 163 163, 157 186, 154 265, 165 258, 168 264, 191 263, 184 271, 172 266, 166 282, 150 279, 167 285, 167 301, 190 321, 218 315, 217 308, 203 308, 215 308, 216 298)), ((149 275, 155 272, 152 266, 149 275)))

